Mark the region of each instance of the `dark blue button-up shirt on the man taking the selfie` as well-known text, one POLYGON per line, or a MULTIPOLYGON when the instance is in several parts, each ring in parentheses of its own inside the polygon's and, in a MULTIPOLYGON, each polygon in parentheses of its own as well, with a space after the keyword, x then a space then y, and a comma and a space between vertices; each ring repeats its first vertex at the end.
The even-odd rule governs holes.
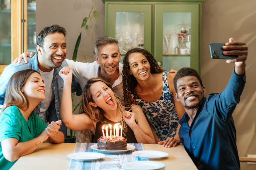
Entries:
POLYGON ((179 120, 181 142, 198 169, 240 169, 232 113, 244 84, 245 74, 233 71, 223 92, 204 98, 190 127, 187 113, 179 120))

